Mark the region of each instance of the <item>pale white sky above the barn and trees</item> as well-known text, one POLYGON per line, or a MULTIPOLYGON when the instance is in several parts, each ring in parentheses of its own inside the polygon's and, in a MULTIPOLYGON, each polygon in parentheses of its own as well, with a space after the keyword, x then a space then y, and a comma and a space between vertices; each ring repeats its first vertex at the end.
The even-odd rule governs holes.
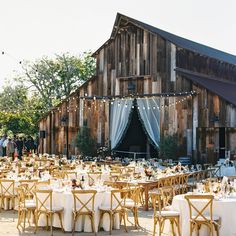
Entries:
POLYGON ((0 89, 20 61, 95 51, 117 12, 236 55, 235 9, 235 0, 0 0, 0 89))

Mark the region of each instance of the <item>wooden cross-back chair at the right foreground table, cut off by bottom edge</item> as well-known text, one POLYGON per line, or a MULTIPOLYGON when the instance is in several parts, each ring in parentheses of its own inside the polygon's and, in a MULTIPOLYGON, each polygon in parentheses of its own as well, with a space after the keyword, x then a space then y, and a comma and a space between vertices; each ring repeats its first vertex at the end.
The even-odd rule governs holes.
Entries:
POLYGON ((198 234, 202 225, 206 225, 213 236, 214 229, 219 236, 220 218, 213 215, 213 195, 185 195, 189 206, 190 236, 196 229, 198 234), (201 206, 199 207, 199 201, 201 206))

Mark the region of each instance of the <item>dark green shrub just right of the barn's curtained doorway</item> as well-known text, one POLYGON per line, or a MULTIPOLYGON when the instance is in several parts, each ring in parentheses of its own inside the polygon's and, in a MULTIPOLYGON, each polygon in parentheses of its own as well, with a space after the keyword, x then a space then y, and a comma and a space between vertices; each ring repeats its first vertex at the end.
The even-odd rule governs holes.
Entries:
POLYGON ((177 158, 177 135, 166 135, 161 138, 159 143, 159 156, 162 159, 177 158))

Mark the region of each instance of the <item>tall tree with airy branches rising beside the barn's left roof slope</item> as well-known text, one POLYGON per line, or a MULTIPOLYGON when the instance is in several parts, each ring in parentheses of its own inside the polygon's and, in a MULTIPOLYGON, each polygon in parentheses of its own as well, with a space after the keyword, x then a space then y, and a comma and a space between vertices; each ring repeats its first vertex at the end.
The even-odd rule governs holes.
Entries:
POLYGON ((80 57, 64 53, 56 55, 55 59, 44 57, 33 63, 26 62, 20 80, 33 86, 45 106, 51 108, 92 77, 95 68, 90 52, 80 57))

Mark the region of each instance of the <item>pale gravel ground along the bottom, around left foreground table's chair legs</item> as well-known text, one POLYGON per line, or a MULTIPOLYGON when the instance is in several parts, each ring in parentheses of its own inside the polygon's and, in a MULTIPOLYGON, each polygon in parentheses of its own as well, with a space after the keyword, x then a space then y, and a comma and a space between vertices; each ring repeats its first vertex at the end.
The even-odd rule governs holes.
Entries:
MULTIPOLYGON (((153 219, 152 219, 152 211, 139 211, 139 223, 141 225, 141 228, 135 229, 132 224, 128 222, 128 233, 124 231, 124 228, 121 226, 120 230, 113 230, 112 235, 136 235, 136 236, 142 236, 142 235, 152 235, 153 230, 153 219)), ((133 222, 133 218, 129 217, 130 221, 133 222)), ((22 236, 28 236, 28 235, 36 235, 36 236, 49 236, 50 232, 46 231, 45 228, 39 228, 36 234, 34 234, 34 227, 28 226, 26 224, 26 230, 25 232, 22 232, 16 228, 17 224, 17 212, 13 211, 1 211, 0 212, 0 236, 10 235, 10 236, 16 236, 16 235, 22 235, 22 236)), ((60 235, 72 235, 71 232, 63 233, 60 229, 53 229, 53 235, 54 236, 60 236, 60 235)), ((76 232, 75 235, 79 236, 89 236, 94 235, 93 233, 83 233, 83 232, 76 232)), ((109 235, 109 232, 99 231, 97 235, 109 235)))

